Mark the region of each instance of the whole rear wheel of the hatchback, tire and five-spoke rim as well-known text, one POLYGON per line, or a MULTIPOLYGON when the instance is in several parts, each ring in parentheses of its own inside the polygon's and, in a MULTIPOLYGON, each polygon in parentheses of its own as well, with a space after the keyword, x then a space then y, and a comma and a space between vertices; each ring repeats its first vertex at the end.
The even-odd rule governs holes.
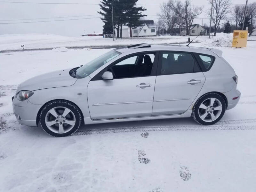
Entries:
POLYGON ((220 94, 206 93, 196 101, 192 117, 199 124, 212 125, 222 118, 225 110, 226 102, 220 94))

